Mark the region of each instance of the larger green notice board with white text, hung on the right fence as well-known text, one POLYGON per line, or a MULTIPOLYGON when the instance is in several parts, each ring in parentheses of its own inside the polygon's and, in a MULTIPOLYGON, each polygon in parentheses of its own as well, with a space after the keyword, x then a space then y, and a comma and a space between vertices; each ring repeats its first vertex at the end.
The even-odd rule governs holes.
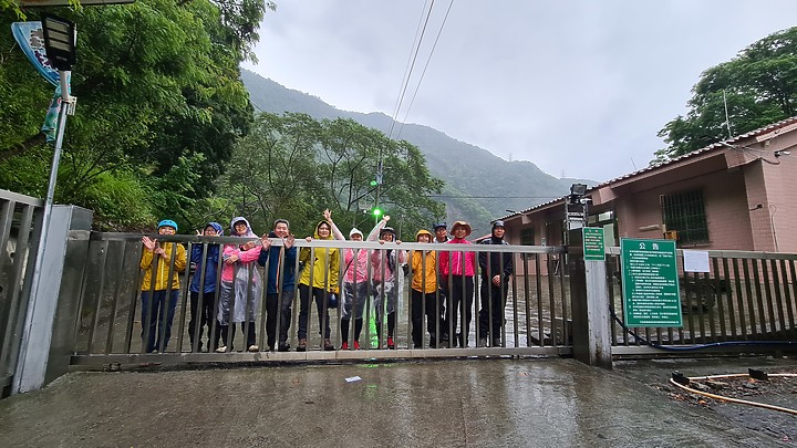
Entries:
POLYGON ((620 240, 628 326, 683 326, 675 241, 620 240))

